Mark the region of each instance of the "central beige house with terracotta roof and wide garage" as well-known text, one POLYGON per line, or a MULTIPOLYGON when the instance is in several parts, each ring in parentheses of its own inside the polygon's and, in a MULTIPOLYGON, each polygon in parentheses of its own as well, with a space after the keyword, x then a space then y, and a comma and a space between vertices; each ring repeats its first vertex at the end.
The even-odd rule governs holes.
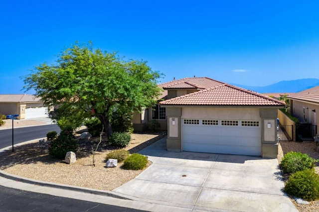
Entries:
POLYGON ((164 101, 148 109, 147 118, 166 122, 168 151, 277 158, 277 110, 283 102, 207 77, 159 87, 164 101))

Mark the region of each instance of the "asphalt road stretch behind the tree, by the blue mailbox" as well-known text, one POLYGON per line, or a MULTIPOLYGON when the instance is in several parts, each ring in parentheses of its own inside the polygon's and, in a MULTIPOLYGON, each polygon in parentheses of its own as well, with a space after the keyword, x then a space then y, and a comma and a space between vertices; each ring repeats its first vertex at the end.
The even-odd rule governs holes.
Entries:
MULTIPOLYGON (((60 128, 56 124, 21 127, 16 129, 13 126, 13 144, 46 137, 46 133, 49 131, 57 131, 60 133, 60 128)), ((12 129, 0 130, 0 149, 7 146, 12 146, 12 129)))

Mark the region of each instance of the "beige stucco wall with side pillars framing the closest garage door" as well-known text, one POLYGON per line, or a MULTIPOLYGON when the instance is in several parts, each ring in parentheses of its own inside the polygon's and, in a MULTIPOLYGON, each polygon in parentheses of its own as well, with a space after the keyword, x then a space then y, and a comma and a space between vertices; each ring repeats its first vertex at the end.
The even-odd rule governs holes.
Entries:
POLYGON ((261 120, 262 157, 277 158, 277 110, 278 108, 166 107, 168 117, 167 150, 181 151, 182 118, 261 120), (173 120, 175 120, 175 125, 172 125, 173 120), (176 125, 176 123, 178 124, 176 125))

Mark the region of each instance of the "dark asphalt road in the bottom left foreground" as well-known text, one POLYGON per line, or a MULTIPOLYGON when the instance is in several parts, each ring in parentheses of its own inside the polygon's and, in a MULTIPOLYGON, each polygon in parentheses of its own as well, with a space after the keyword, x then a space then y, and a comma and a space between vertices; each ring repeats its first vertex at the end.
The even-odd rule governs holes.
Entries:
POLYGON ((0 212, 143 212, 0 186, 0 212))

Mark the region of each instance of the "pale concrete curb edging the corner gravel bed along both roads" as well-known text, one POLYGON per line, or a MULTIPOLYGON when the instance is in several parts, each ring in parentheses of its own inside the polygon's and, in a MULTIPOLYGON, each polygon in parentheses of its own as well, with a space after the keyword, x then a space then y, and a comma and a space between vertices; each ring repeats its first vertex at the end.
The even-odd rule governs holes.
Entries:
MULTIPOLYGON (((46 137, 44 137, 44 138, 46 138, 46 137)), ((38 138, 38 139, 30 140, 30 141, 25 141, 25 142, 16 144, 14 146, 20 146, 20 145, 24 145, 24 144, 27 144, 27 143, 32 143, 32 142, 35 142, 35 141, 38 141, 38 140, 44 139, 44 138, 38 138)), ((8 146, 8 147, 0 149, 0 154, 1 154, 1 152, 5 151, 5 150, 9 150, 11 148, 12 148, 12 146, 8 146)), ((78 187, 78 186, 70 186, 70 185, 65 185, 65 184, 44 182, 44 181, 39 181, 39 180, 34 180, 34 179, 30 179, 30 178, 21 177, 21 176, 18 176, 18 175, 12 175, 12 174, 6 173, 6 172, 4 172, 2 170, 0 170, 0 177, 6 178, 6 179, 9 179, 9 180, 14 180, 14 181, 21 182, 21 183, 31 184, 31 185, 37 185, 37 186, 43 186, 43 187, 49 187, 49 188, 56 188, 56 189, 64 189, 64 190, 83 192, 83 193, 88 193, 88 194, 95 194, 95 195, 101 195, 101 196, 117 198, 117 199, 121 199, 121 200, 132 200, 132 199, 129 199, 129 198, 126 198, 126 197, 122 197, 122 196, 120 196, 118 194, 115 194, 114 192, 111 192, 111 191, 98 190, 98 189, 89 189, 89 188, 78 187)))

